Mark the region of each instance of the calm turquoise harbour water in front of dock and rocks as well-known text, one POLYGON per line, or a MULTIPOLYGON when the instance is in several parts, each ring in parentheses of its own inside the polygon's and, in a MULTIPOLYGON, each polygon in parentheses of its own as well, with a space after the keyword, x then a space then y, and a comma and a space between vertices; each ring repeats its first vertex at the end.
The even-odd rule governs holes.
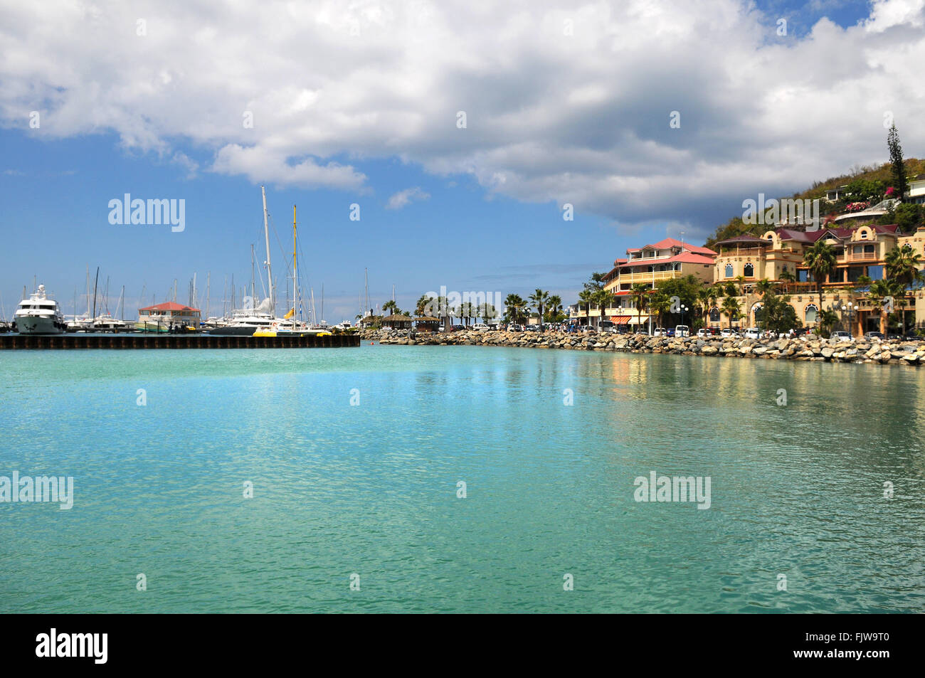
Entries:
POLYGON ((923 391, 586 351, 7 351, 0 475, 75 499, 0 503, 0 612, 922 611, 923 391), (709 510, 636 502, 650 471, 709 476, 709 510))

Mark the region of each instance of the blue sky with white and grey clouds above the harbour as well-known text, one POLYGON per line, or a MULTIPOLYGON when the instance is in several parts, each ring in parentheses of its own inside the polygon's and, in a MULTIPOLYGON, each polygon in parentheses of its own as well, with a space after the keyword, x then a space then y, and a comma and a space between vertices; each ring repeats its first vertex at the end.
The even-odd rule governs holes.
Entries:
POLYGON ((629 247, 885 162, 892 121, 925 155, 923 64, 925 0, 0 0, 0 301, 82 313, 98 267, 98 311, 195 275, 221 314, 252 245, 265 278, 263 185, 277 297, 296 205, 328 322, 367 270, 376 306, 571 303, 629 247), (182 229, 111 223, 125 194, 182 229))

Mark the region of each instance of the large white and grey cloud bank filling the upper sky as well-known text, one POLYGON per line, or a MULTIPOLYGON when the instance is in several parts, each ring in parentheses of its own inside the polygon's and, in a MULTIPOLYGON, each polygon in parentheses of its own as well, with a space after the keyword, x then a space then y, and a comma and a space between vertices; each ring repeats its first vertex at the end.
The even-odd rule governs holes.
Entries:
POLYGON ((3 124, 41 110, 41 135, 116 130, 166 157, 179 140, 254 182, 359 191, 365 159, 398 157, 627 226, 697 225, 885 161, 885 111, 925 153, 925 0, 783 38, 748 0, 0 3, 3 124))

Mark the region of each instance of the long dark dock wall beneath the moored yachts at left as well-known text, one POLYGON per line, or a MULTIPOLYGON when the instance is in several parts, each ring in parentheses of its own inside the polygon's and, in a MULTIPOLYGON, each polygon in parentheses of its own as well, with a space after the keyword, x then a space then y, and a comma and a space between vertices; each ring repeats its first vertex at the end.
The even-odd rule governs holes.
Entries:
POLYGON ((223 337, 209 334, 0 334, 0 349, 333 349, 359 346, 356 334, 223 337))

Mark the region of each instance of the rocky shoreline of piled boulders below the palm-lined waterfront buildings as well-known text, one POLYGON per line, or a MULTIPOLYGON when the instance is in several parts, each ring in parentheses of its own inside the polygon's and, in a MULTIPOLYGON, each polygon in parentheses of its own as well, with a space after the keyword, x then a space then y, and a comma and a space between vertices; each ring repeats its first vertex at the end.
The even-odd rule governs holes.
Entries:
POLYGON ((620 351, 627 353, 673 353, 735 358, 826 361, 830 363, 909 364, 925 363, 925 341, 871 341, 857 339, 832 342, 826 339, 721 339, 711 337, 649 337, 645 334, 565 334, 563 332, 475 332, 402 335, 391 330, 366 329, 364 341, 401 346, 501 346, 508 348, 564 349, 571 351, 620 351))

